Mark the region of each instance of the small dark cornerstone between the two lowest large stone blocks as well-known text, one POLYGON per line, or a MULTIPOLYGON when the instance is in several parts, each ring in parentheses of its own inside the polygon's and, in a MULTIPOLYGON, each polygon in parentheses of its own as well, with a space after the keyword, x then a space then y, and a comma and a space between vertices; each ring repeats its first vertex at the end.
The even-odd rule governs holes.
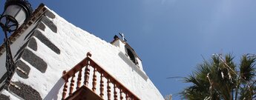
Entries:
POLYGON ((19 67, 20 69, 22 69, 24 72, 27 73, 27 74, 24 74, 20 70, 16 70, 16 73, 18 74, 18 76, 22 77, 23 79, 27 79, 30 73, 30 67, 28 67, 27 64, 25 64, 21 60, 16 61, 16 67, 19 67))

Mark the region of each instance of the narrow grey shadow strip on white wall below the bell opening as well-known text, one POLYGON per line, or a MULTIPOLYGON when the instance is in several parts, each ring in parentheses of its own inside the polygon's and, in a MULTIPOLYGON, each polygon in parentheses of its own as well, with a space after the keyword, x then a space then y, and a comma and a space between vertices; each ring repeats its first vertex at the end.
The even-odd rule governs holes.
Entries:
POLYGON ((140 68, 137 67, 137 65, 135 65, 134 62, 131 61, 131 59, 128 58, 128 56, 125 56, 125 54, 122 53, 122 52, 119 52, 119 53, 118 53, 118 56, 119 56, 123 61, 125 61, 125 63, 129 65, 129 67, 131 67, 132 71, 137 72, 137 73, 142 77, 142 79, 144 79, 145 81, 147 81, 148 76, 145 75, 145 73, 142 72, 142 70, 140 70, 140 68))

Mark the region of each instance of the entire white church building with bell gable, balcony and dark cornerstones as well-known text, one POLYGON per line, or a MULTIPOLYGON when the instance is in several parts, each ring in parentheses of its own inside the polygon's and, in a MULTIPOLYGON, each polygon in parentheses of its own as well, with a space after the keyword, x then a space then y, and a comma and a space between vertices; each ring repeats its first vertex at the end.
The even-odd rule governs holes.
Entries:
POLYGON ((123 35, 109 43, 44 4, 10 41, 16 73, 4 87, 7 70, 1 44, 0 99, 163 100, 123 35))

